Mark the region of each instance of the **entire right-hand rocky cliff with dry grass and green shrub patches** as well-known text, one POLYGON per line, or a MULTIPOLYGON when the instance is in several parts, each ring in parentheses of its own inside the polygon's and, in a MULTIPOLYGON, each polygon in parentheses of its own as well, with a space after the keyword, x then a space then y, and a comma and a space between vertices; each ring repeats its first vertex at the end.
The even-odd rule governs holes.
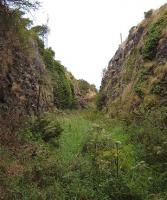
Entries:
POLYGON ((166 106, 167 5, 145 13, 104 73, 99 105, 111 116, 166 106))

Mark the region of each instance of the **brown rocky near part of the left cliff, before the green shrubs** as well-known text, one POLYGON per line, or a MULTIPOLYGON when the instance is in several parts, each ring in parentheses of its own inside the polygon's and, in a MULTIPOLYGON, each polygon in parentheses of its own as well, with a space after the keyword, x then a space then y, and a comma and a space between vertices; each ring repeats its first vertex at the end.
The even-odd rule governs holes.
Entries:
MULTIPOLYGON (((46 70, 36 42, 25 35, 25 45, 14 27, 14 13, 3 6, 0 9, 0 117, 10 121, 36 112, 39 80, 46 70)), ((47 84, 44 87, 41 104, 48 109, 52 97, 45 95, 47 84)))

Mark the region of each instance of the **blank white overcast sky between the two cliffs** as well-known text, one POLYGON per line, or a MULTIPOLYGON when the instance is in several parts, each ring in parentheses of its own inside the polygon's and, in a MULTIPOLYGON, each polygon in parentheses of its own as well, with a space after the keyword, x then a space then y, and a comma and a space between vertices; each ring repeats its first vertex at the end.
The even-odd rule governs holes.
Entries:
POLYGON ((77 79, 99 88, 102 70, 107 67, 132 26, 144 12, 159 8, 166 0, 40 0, 42 7, 33 16, 35 24, 49 18, 48 46, 56 60, 77 79))

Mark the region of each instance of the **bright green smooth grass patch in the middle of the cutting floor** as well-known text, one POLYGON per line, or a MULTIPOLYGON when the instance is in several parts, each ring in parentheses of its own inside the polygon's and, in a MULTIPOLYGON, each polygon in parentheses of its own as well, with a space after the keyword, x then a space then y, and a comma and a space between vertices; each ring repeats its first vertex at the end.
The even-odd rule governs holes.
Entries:
POLYGON ((60 147, 57 153, 59 159, 64 164, 68 164, 81 152, 92 122, 85 119, 83 113, 75 112, 62 117, 61 125, 64 132, 60 137, 60 147))

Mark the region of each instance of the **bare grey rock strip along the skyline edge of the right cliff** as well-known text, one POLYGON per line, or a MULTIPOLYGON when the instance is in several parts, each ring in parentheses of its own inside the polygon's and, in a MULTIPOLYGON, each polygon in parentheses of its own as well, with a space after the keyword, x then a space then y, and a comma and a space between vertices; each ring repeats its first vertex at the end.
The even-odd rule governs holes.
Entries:
POLYGON ((121 73, 125 67, 125 60, 130 55, 131 51, 138 45, 143 33, 144 28, 142 26, 132 27, 129 31, 128 39, 119 46, 114 57, 110 60, 108 69, 104 74, 101 84, 101 90, 107 89, 110 91, 109 96, 107 95, 108 99, 114 100, 116 97, 121 95, 121 88, 124 87, 121 82, 121 73), (115 87, 119 87, 119 90, 116 90, 117 88, 115 87))

